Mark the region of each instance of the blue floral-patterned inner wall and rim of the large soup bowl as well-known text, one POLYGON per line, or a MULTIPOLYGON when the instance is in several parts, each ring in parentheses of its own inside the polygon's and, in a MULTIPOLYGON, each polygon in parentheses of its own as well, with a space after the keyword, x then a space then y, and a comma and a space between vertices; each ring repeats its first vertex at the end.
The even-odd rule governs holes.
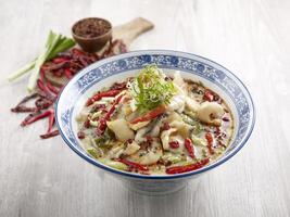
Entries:
POLYGON ((137 51, 110 58, 90 65, 75 76, 62 91, 56 103, 56 123, 62 138, 78 155, 89 163, 105 170, 126 177, 141 179, 176 179, 206 171, 234 156, 249 139, 255 120, 254 105, 244 85, 225 67, 207 59, 177 51, 137 51), (146 176, 129 174, 109 168, 90 157, 79 144, 76 132, 73 131, 73 111, 80 95, 99 81, 127 71, 140 69, 144 65, 155 63, 161 68, 176 69, 194 74, 218 86, 232 100, 238 112, 237 136, 225 155, 213 164, 199 170, 173 176, 146 176))

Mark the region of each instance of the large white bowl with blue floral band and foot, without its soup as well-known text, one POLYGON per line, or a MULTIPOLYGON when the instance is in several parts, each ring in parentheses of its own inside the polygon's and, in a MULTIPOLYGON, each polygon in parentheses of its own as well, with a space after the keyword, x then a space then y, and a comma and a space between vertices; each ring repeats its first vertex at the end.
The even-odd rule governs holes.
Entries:
POLYGON ((144 50, 99 61, 76 75, 63 89, 56 103, 56 124, 65 143, 80 157, 122 180, 139 192, 163 194, 176 191, 185 182, 225 163, 234 156, 249 139, 255 122, 255 112, 251 95, 241 80, 219 64, 207 59, 178 51, 144 50), (108 167, 83 149, 77 138, 76 115, 85 101, 96 90, 108 87, 134 76, 144 65, 155 63, 166 74, 179 71, 181 76, 200 80, 226 100, 234 113, 234 139, 225 154, 216 162, 194 171, 179 175, 147 176, 116 170, 108 167))

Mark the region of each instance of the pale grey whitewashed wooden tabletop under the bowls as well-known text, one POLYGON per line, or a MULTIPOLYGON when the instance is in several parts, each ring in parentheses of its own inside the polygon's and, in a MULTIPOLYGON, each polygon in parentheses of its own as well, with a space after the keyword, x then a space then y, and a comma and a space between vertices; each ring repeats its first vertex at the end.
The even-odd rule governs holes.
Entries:
POLYGON ((290 216, 290 1, 0 1, 0 216, 290 216), (5 77, 36 56, 49 29, 70 35, 78 18, 114 25, 143 16, 155 29, 131 50, 174 49, 212 59, 249 87, 257 112, 244 149, 178 193, 129 192, 84 162, 60 137, 38 138, 11 114, 26 79, 5 77))

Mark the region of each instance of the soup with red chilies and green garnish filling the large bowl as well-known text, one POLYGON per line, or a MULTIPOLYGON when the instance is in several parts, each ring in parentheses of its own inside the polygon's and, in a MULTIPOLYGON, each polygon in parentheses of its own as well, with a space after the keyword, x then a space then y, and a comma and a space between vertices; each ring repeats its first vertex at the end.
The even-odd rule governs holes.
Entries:
POLYGON ((179 72, 168 77, 156 65, 90 95, 77 123, 92 157, 142 175, 204 167, 225 152, 234 131, 230 110, 217 93, 179 72))

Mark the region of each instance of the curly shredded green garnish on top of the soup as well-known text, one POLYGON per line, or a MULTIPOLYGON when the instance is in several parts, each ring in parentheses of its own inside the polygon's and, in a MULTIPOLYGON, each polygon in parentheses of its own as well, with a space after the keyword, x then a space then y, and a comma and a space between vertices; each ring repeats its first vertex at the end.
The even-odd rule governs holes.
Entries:
POLYGON ((130 92, 137 108, 144 113, 161 104, 168 104, 177 92, 171 79, 155 64, 146 66, 130 84, 130 92))

